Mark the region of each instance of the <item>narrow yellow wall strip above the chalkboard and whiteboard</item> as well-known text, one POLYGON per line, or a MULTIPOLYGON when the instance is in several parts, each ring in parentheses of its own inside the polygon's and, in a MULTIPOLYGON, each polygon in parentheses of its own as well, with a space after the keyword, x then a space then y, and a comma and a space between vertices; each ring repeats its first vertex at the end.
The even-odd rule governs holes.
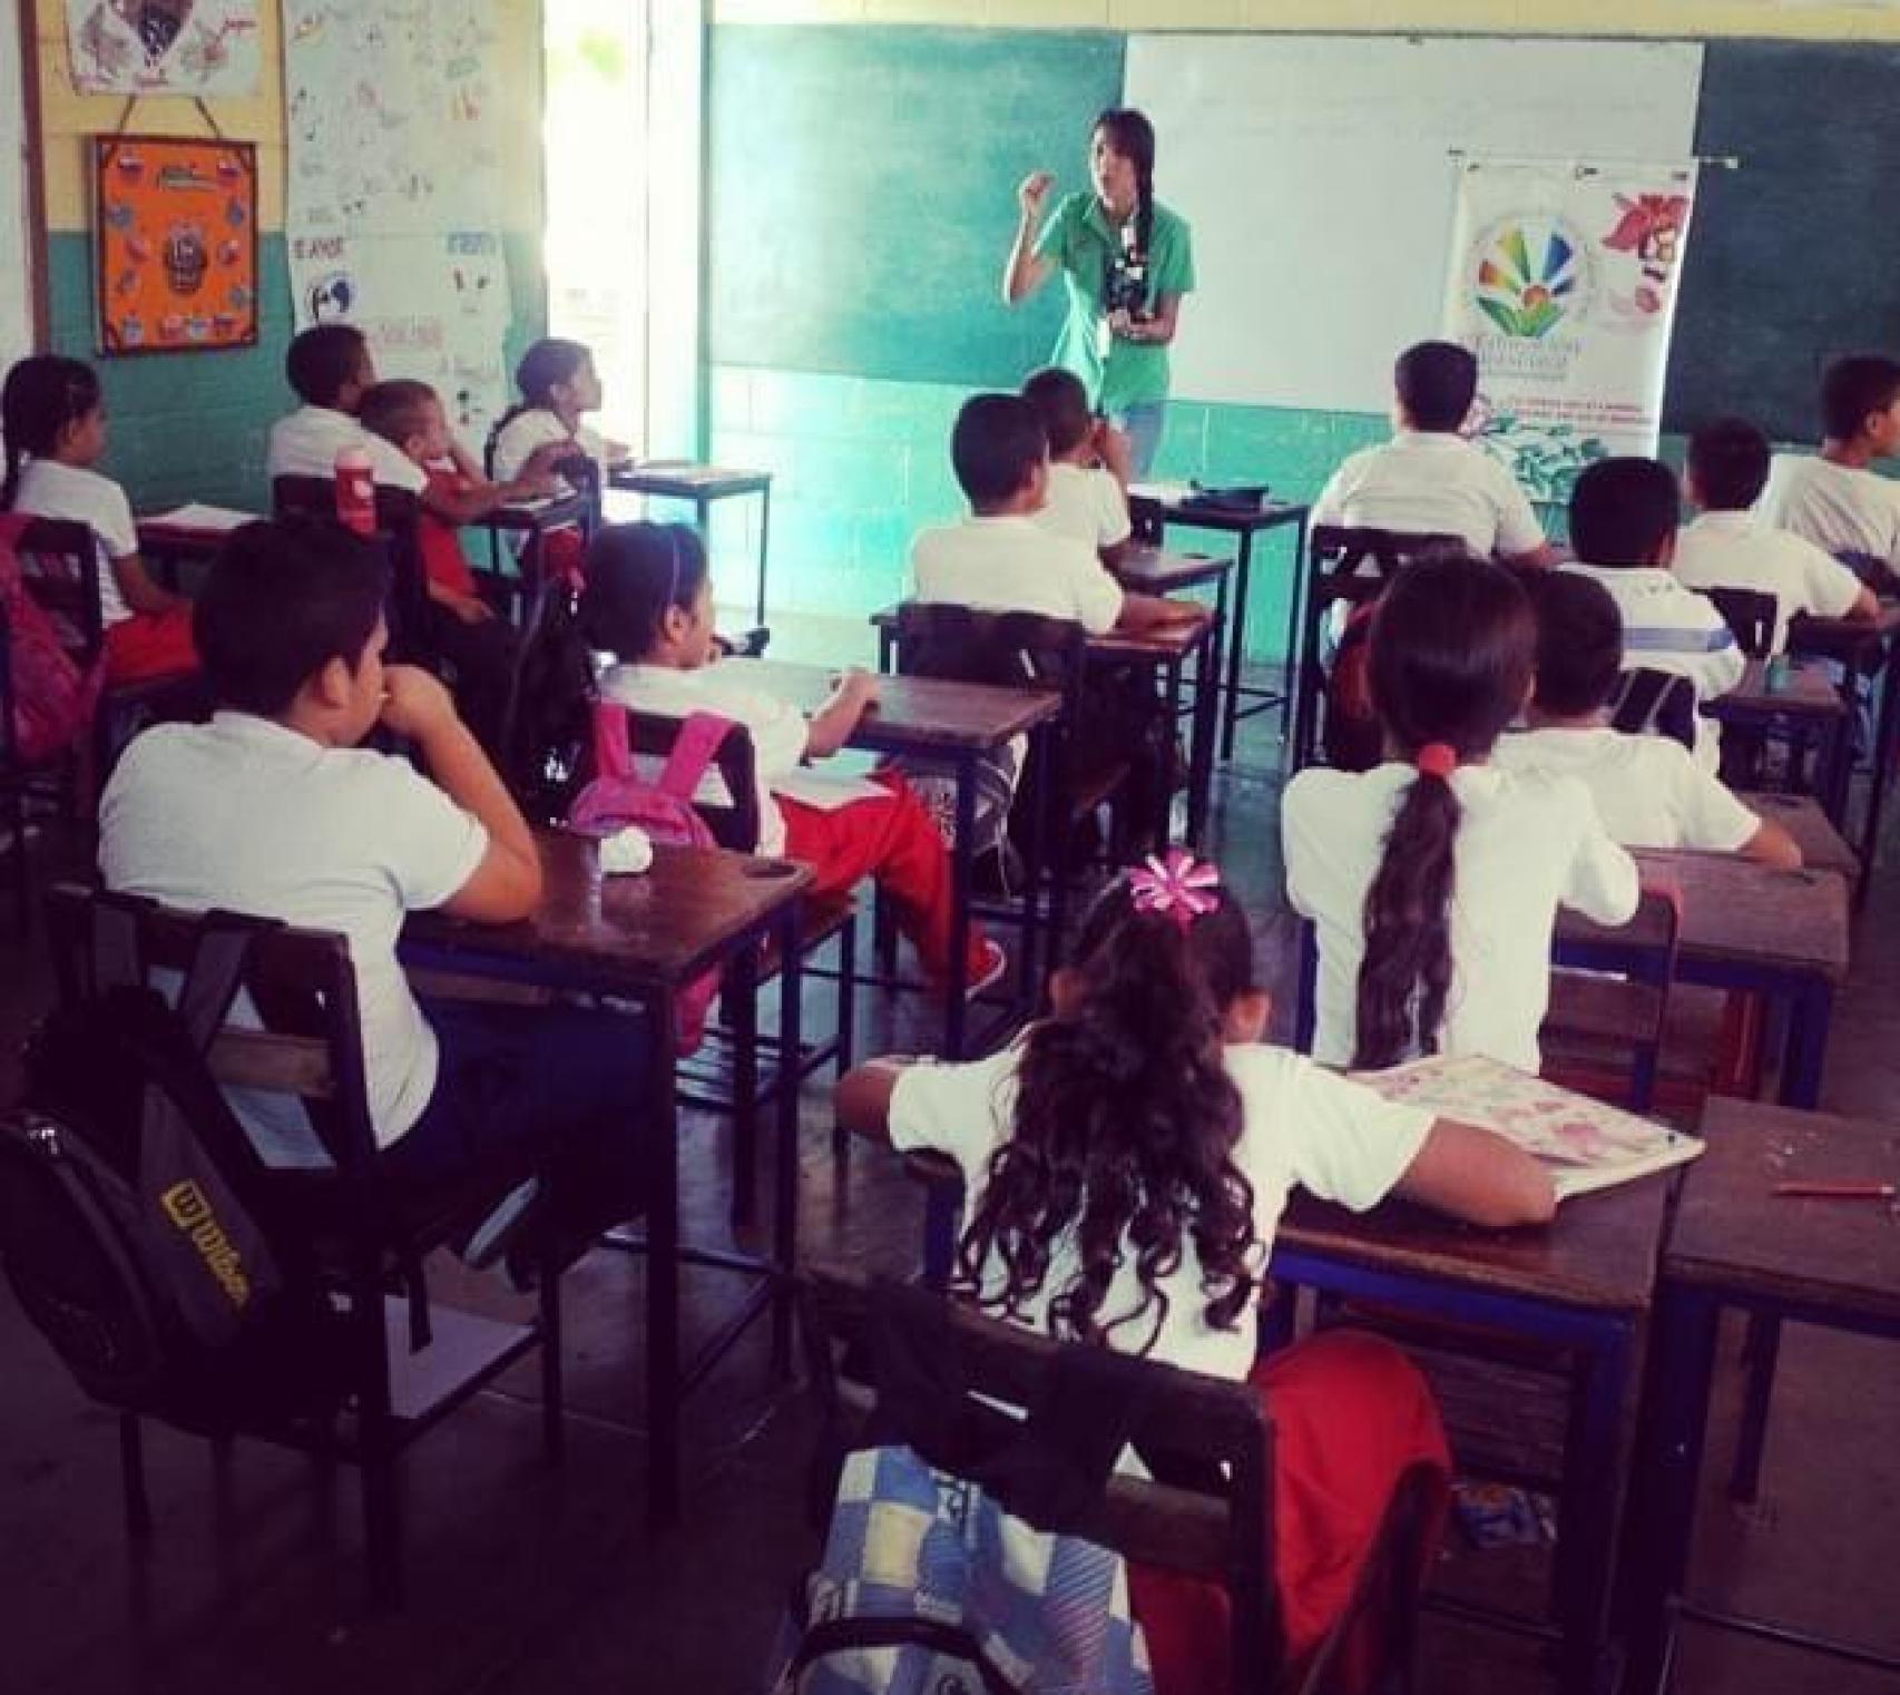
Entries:
POLYGON ((1900 40, 1900 10, 1790 0, 712 0, 714 23, 1900 40))

